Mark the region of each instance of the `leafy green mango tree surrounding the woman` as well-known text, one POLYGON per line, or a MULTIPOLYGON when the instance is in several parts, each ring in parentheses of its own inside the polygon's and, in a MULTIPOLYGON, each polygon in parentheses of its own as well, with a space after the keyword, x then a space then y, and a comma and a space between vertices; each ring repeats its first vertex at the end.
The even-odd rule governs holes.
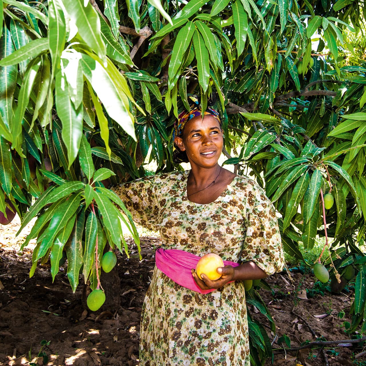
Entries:
MULTIPOLYGON (((139 247, 103 182, 145 175, 150 147, 158 172, 182 169, 172 124, 198 94, 223 116, 226 164, 275 204, 285 251, 303 259, 325 236, 331 277, 354 269, 351 326, 364 332, 364 15, 356 0, 0 0, 0 211, 20 230, 37 217, 30 275, 50 258, 55 278, 66 252, 72 290, 79 272, 99 290, 103 252, 128 255, 121 221, 139 247)), ((260 364, 270 342, 249 329, 260 364)))

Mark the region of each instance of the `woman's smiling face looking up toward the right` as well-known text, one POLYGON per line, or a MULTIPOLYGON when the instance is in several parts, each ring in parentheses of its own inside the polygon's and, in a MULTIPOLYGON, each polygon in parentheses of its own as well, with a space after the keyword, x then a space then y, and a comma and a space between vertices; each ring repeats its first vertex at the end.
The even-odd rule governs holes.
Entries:
POLYGON ((179 149, 187 153, 189 162, 202 168, 217 164, 223 150, 223 133, 217 119, 211 115, 189 120, 182 136, 175 137, 179 149))

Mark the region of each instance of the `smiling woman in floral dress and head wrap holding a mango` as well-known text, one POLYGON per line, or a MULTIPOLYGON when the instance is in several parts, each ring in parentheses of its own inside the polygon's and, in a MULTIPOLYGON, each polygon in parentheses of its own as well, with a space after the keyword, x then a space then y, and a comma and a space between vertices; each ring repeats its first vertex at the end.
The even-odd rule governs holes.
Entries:
POLYGON ((222 276, 216 281, 204 275, 201 280, 192 269, 197 291, 184 287, 190 272, 180 278, 176 274, 173 281, 154 268, 142 310, 143 366, 249 366, 242 280, 283 268, 275 209, 253 180, 220 167, 220 118, 210 108, 203 119, 201 114, 194 106, 175 124, 175 156, 186 156, 191 171, 149 176, 114 190, 137 223, 160 231, 163 249, 216 253, 241 264, 219 268, 222 276))

